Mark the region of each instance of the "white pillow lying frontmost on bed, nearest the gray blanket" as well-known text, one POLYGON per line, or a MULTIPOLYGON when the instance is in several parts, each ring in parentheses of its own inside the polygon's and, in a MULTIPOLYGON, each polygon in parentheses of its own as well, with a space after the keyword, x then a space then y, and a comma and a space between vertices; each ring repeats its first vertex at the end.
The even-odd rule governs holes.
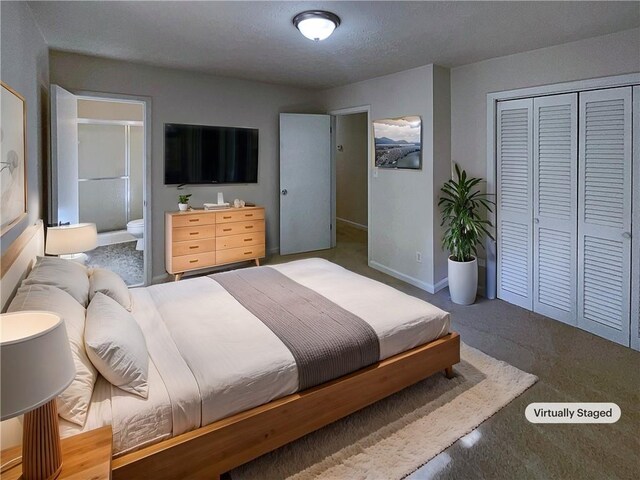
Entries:
POLYGON ((125 392, 147 398, 147 344, 138 322, 122 305, 96 293, 87 309, 84 343, 104 378, 125 392))

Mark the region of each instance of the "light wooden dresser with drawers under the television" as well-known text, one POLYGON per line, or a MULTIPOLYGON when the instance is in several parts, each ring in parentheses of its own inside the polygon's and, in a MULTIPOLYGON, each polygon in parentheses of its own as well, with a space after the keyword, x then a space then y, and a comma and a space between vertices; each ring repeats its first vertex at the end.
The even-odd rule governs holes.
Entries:
POLYGON ((178 281, 191 270, 265 256, 263 207, 165 214, 165 263, 178 281))

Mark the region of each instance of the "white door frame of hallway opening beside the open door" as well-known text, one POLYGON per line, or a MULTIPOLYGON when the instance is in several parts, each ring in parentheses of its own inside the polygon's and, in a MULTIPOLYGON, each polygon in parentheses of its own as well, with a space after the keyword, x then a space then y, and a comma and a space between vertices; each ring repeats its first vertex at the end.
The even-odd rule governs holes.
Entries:
POLYGON ((373 161, 371 158, 371 105, 361 105, 358 107, 340 108, 329 111, 331 115, 331 246, 336 246, 336 121, 335 118, 341 115, 353 115, 355 113, 367 114, 367 265, 371 266, 371 238, 373 228, 371 225, 371 175, 373 171, 373 161))

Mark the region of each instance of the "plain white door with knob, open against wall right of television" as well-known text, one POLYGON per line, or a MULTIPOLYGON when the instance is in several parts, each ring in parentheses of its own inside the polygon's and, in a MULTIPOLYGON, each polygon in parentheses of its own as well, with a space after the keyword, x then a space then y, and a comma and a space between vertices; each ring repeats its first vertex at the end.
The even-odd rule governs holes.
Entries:
POLYGON ((331 116, 280 114, 280 253, 331 248, 331 116))

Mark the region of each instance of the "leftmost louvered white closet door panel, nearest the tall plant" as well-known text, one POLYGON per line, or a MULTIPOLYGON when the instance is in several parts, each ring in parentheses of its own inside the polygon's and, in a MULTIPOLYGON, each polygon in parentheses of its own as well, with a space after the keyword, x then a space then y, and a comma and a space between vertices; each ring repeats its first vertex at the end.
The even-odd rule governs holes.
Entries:
POLYGON ((498 298, 532 309, 533 99, 498 104, 498 298))

